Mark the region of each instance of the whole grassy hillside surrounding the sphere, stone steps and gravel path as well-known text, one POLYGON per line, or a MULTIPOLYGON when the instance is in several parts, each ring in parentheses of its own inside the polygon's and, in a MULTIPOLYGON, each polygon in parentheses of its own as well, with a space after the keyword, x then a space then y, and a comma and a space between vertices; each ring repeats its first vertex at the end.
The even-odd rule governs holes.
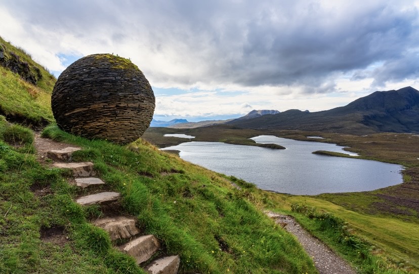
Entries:
MULTIPOLYGON (((10 44, 7 48, 18 51, 10 44)), ((28 56, 21 58, 36 66, 28 56)), ((162 244, 159 255, 179 254, 180 273, 316 273, 296 239, 265 215, 269 209, 294 214, 316 229, 313 233, 327 239, 359 273, 405 273, 403 265, 374 253, 344 220, 305 206, 291 208, 292 196, 190 164, 143 139, 119 146, 61 131, 48 101, 54 78, 42 84, 46 74, 33 85, 2 69, 7 88, 0 89, 5 114, 0 115, 0 272, 145 273, 143 265, 115 247, 120 242, 92 224, 117 213, 134 216, 144 234, 156 236, 162 244), (36 87, 39 96, 31 96, 27 86, 36 87), (121 194, 118 207, 75 202, 85 190, 72 184, 69 170, 52 167, 34 146, 31 128, 42 126, 43 119, 51 123, 42 138, 80 147, 73 160, 94 163, 106 182, 99 190, 121 194), (51 241, 54 237, 61 240, 51 241)))

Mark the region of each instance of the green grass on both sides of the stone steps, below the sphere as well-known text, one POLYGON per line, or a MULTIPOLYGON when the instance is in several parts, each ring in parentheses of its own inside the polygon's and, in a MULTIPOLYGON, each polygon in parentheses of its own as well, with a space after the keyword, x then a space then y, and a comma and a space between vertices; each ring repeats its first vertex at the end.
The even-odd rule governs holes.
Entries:
MULTIPOLYGON (((232 188, 225 177, 141 140, 120 147, 77 138, 54 125, 44 135, 85 148, 74 160, 95 163, 108 188, 123 196, 121 208, 115 210, 137 216, 141 229, 163 243, 162 252, 180 254, 183 272, 315 272, 294 238, 251 203, 246 190, 232 188)), ((2 222, 0 269, 37 272, 50 263, 43 272, 140 272, 136 267, 130 270, 132 260, 112 249, 108 236, 89 225, 105 213, 73 202, 81 193, 68 185, 65 171, 40 165, 33 154, 19 153, 5 143, 2 148, 6 166, 1 208, 11 210, 2 222), (35 189, 46 195, 36 195, 35 189), (51 226, 62 227, 69 237, 63 250, 43 241, 41 232, 51 226), (71 265, 73 256, 82 264, 71 265)))

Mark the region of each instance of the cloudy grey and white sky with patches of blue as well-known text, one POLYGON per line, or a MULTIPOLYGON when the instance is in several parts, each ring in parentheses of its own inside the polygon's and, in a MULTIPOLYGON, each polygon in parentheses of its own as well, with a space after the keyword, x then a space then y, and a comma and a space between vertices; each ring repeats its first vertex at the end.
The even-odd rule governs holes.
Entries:
POLYGON ((58 76, 80 57, 130 58, 159 120, 326 110, 419 88, 419 1, 2 0, 0 36, 58 76))

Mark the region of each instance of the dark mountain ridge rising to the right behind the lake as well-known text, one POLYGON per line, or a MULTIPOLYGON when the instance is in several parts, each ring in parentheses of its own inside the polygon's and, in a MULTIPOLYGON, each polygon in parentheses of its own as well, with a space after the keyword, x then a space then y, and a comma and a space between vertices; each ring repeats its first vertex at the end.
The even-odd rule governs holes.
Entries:
POLYGON ((228 122, 240 128, 292 129, 369 134, 419 133, 419 91, 404 87, 374 92, 339 108, 319 112, 287 110, 278 114, 228 122))

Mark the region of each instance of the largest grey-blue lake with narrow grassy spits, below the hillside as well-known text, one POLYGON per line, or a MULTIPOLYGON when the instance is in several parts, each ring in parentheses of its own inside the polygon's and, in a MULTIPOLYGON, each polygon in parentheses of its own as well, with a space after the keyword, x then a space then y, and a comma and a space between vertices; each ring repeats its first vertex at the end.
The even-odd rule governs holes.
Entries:
POLYGON ((296 195, 369 191, 403 181, 400 165, 312 154, 317 150, 348 153, 333 144, 266 135, 252 139, 286 149, 189 142, 163 150, 179 150, 186 161, 253 182, 261 189, 296 195))

